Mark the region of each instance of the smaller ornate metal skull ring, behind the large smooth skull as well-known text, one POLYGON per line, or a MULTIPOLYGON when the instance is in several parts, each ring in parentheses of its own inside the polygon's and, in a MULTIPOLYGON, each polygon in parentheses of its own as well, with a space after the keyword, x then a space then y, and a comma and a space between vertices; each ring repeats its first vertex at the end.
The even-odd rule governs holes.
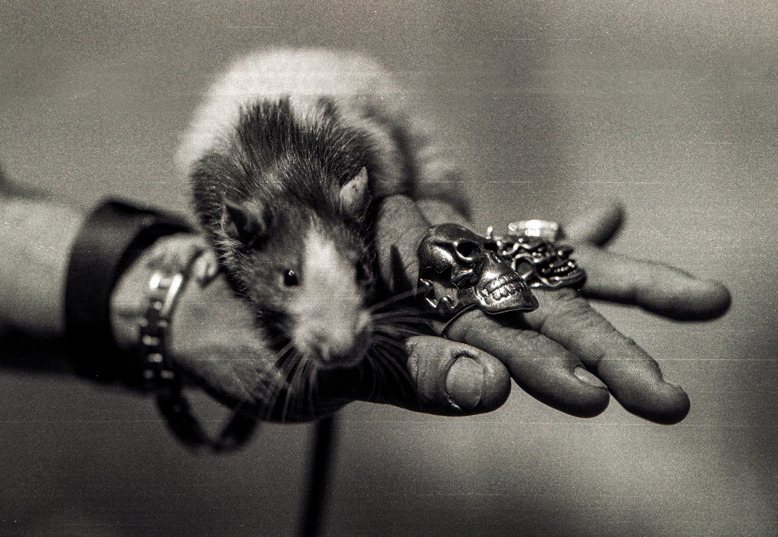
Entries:
POLYGON ((583 269, 570 259, 573 247, 557 244, 559 224, 545 220, 511 222, 511 233, 504 237, 486 232, 487 240, 496 243, 497 253, 521 274, 531 288, 557 289, 579 284, 586 278, 583 269))

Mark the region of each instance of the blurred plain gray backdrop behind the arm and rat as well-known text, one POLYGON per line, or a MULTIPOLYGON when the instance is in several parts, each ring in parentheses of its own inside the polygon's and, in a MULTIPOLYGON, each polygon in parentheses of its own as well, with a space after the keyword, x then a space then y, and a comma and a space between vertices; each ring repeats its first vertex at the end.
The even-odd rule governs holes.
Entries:
MULTIPOLYGON (((776 15, 771 2, 0 2, 0 160, 64 203, 183 208, 177 137, 227 61, 276 44, 371 54, 440 118, 478 228, 619 197, 629 221, 612 249, 724 281, 734 302, 711 323, 597 305, 689 392, 672 427, 615 402, 578 420, 515 386, 467 419, 349 406, 328 535, 776 535, 776 15)), ((0 533, 290 535, 309 435, 268 425, 238 455, 196 457, 148 399, 2 375, 0 533)))

